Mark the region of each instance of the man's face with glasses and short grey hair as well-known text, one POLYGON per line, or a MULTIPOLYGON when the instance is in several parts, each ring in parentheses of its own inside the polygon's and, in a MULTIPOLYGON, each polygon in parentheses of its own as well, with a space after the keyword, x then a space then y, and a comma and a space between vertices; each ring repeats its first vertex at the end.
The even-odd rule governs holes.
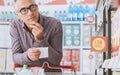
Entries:
POLYGON ((38 7, 35 5, 34 0, 17 0, 16 2, 16 15, 22 19, 25 24, 29 25, 31 21, 38 21, 38 7))

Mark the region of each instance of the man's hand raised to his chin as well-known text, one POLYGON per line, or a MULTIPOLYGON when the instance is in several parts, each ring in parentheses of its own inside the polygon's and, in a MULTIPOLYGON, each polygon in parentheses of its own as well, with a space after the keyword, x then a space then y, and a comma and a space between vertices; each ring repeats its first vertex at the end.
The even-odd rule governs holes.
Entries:
POLYGON ((42 27, 41 24, 36 22, 31 22, 30 28, 32 30, 32 34, 34 35, 36 41, 40 41, 43 39, 44 28, 42 27))

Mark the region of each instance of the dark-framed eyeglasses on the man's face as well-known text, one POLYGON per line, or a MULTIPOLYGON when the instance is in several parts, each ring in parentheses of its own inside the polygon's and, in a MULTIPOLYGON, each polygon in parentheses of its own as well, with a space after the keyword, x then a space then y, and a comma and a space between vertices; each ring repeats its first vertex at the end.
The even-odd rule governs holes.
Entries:
POLYGON ((37 4, 31 4, 28 8, 21 8, 18 12, 25 15, 28 13, 28 9, 32 12, 35 11, 37 9, 37 4))

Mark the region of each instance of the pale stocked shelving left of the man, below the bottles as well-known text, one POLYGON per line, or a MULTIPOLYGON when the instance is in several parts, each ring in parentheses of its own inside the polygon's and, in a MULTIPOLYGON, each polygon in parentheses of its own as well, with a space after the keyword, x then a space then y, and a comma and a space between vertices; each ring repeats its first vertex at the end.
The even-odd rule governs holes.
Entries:
POLYGON ((13 75, 14 73, 9 29, 9 22, 0 22, 0 52, 2 52, 0 54, 0 65, 4 66, 4 68, 0 67, 0 75, 13 75))

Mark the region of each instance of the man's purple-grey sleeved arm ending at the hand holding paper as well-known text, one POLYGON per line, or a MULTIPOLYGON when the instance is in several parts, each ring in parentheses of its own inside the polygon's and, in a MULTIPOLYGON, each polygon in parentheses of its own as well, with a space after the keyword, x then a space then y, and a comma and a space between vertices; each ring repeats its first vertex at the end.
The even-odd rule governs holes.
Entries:
POLYGON ((10 26, 10 36, 14 63, 23 65, 30 62, 27 57, 27 51, 23 53, 22 44, 20 43, 21 39, 17 26, 14 23, 11 23, 10 26))

